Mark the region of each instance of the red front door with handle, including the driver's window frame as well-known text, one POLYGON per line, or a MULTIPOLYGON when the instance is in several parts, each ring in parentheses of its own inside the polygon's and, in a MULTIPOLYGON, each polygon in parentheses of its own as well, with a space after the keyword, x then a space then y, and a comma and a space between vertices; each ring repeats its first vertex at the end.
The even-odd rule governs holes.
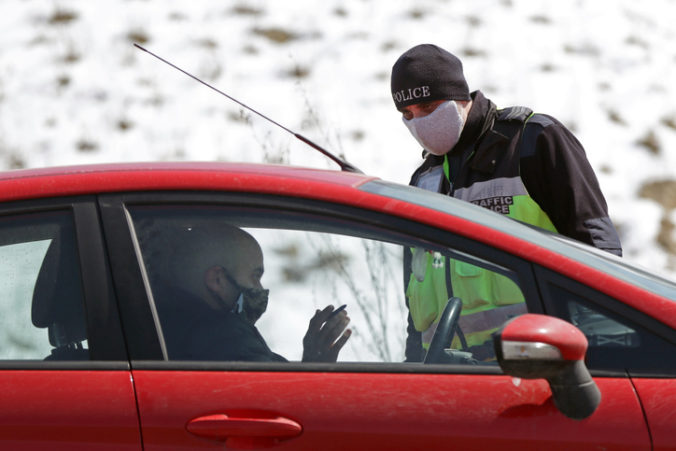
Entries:
MULTIPOLYGON (((523 260, 394 216, 307 200, 129 194, 106 196, 101 207, 116 244, 109 252, 145 449, 650 449, 626 377, 599 380, 598 410, 577 421, 556 409, 544 380, 513 379, 490 360, 403 362, 405 252, 460 261, 468 277, 471 267, 494 272, 520 292, 524 311, 539 312, 523 260), (212 225, 245 230, 260 245, 270 301, 256 330, 288 361, 224 359, 223 349, 240 343, 217 327, 211 341, 196 340, 214 318, 195 320, 199 297, 179 293, 198 261, 185 250, 212 225), (162 289, 167 283, 173 288, 162 289), (308 320, 328 304, 347 304, 352 336, 337 362, 303 362, 308 320), (181 357, 195 343, 213 358, 181 357)), ((222 255, 217 266, 235 258, 222 255)))

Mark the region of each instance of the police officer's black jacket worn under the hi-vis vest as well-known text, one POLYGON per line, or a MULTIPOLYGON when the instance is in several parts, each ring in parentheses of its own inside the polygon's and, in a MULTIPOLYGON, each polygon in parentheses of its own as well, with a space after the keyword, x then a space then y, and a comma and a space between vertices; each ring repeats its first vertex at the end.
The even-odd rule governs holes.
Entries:
MULTIPOLYGON (((451 181, 444 177, 439 191, 453 196, 477 182, 520 176, 559 233, 622 255, 598 180, 575 136, 553 117, 531 115, 528 108, 498 110, 480 91, 472 93, 472 100, 460 140, 448 154, 451 181)), ((417 185, 420 174, 443 162, 443 156, 428 154, 410 184, 417 185)), ((409 260, 405 253, 404 287, 409 260)), ((420 333, 410 315, 408 331, 407 360, 419 360, 420 333)))

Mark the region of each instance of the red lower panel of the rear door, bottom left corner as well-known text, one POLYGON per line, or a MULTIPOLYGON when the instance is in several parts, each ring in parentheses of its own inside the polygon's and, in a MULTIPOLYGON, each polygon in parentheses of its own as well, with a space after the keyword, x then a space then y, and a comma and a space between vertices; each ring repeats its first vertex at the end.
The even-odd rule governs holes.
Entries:
POLYGON ((0 371, 7 450, 140 450, 129 371, 0 371))

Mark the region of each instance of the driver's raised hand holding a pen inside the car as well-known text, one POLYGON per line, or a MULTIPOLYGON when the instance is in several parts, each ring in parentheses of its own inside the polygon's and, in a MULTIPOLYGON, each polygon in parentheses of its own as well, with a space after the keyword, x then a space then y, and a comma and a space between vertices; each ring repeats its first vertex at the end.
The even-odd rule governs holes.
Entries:
POLYGON ((345 310, 327 321, 333 310, 334 307, 329 305, 324 310, 317 310, 310 319, 303 337, 303 362, 335 362, 352 335, 350 329, 345 329, 350 323, 345 310))

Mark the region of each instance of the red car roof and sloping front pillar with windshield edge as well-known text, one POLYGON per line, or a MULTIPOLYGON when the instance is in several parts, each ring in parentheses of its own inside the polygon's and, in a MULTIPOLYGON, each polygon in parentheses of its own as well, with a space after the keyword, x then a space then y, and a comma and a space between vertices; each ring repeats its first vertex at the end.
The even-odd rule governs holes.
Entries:
MULTIPOLYGON (((449 196, 360 173, 282 165, 160 162, 65 166, 0 173, 0 201, 130 191, 266 193, 343 203, 446 229, 514 253, 582 283, 601 286, 651 316, 673 312, 676 284, 591 246, 567 242, 449 196), (652 301, 648 301, 652 298, 652 301)), ((570 241, 570 240, 568 240, 570 241)))

